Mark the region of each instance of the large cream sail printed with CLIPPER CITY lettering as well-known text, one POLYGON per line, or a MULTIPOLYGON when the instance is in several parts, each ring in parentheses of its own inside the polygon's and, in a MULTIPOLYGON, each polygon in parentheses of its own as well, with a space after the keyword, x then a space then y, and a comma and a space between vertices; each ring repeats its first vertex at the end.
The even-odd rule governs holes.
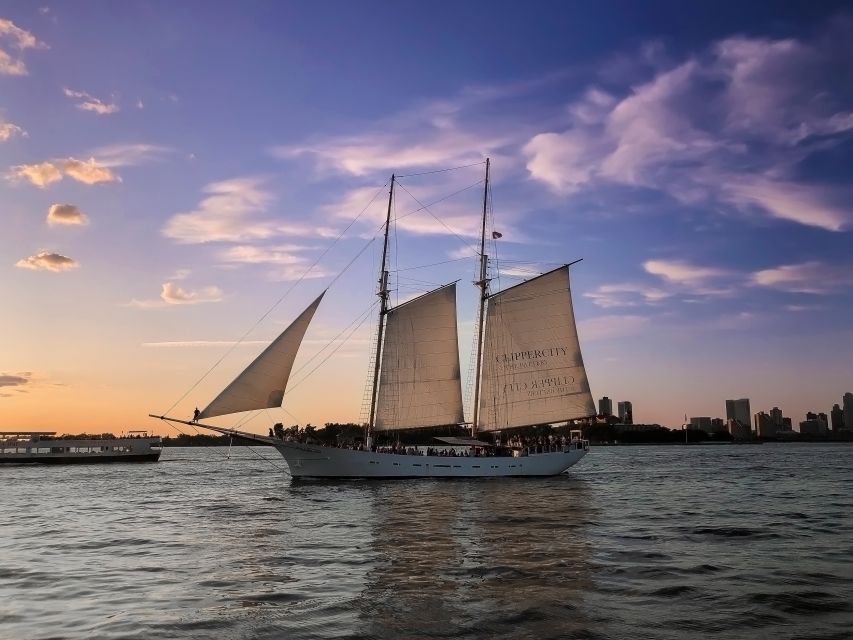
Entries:
POLYGON ((478 429, 595 414, 567 266, 489 298, 483 342, 478 429))

